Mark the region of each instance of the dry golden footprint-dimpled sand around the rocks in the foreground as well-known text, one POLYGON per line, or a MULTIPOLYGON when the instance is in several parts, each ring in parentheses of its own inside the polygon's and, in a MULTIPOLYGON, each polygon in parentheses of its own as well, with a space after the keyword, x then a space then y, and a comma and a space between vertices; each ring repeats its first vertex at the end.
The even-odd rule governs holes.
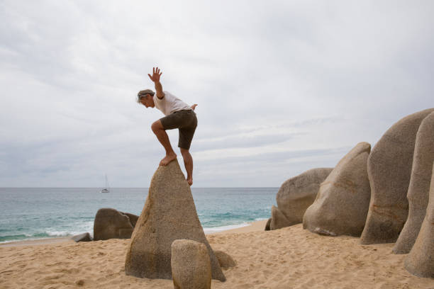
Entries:
MULTIPOLYGON (((434 288, 434 279, 404 269, 406 255, 393 254, 394 244, 362 246, 301 224, 265 232, 265 222, 207 235, 237 262, 212 288, 434 288)), ((129 241, 0 245, 0 288, 173 288, 172 280, 125 275, 129 241)))

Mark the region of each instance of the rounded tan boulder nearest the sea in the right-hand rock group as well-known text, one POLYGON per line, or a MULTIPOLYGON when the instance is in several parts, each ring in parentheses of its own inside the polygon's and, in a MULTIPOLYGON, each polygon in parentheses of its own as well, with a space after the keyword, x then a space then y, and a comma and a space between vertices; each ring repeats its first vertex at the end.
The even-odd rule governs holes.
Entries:
POLYGON ((286 180, 277 192, 277 208, 285 215, 286 226, 303 222, 303 215, 316 198, 320 184, 333 168, 318 168, 305 171, 286 180))

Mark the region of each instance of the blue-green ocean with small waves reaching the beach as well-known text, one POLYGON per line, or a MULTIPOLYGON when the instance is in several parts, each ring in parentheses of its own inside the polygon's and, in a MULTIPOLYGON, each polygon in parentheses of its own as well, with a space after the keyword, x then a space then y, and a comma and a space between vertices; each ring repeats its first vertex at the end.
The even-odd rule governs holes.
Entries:
MULTIPOLYGON (((279 188, 191 188, 206 234, 270 217, 279 188)), ((93 234, 100 208, 140 215, 148 188, 0 188, 0 242, 93 234)))

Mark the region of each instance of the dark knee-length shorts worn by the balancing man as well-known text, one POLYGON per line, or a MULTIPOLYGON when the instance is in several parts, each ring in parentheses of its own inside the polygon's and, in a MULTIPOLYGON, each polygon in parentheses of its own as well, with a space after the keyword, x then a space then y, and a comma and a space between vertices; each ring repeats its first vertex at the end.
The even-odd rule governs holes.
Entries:
POLYGON ((193 140, 194 131, 197 127, 196 113, 192 110, 175 111, 164 118, 160 118, 161 124, 165 130, 179 130, 178 147, 190 149, 191 140, 193 140))

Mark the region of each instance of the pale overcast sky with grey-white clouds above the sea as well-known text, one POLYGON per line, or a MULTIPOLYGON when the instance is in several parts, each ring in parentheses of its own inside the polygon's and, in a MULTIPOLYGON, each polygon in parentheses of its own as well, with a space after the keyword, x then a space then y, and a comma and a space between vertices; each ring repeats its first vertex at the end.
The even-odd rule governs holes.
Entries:
POLYGON ((0 186, 148 187, 164 115, 135 96, 155 66, 199 104, 194 186, 335 166, 434 107, 433 15, 434 1, 2 0, 0 186))

